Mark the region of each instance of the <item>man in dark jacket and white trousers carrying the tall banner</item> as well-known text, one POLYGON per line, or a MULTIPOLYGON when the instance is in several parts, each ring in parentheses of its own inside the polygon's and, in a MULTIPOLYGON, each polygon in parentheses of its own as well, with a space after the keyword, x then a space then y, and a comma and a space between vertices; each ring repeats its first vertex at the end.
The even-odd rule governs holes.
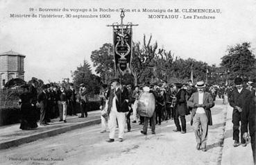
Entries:
POLYGON ((111 80, 111 90, 110 98, 108 101, 108 114, 109 114, 109 123, 108 127, 110 129, 108 142, 114 141, 114 133, 117 128, 117 122, 119 125, 119 141, 123 141, 124 127, 126 114, 125 112, 129 111, 128 108, 128 89, 122 87, 119 84, 119 79, 114 78, 111 80))

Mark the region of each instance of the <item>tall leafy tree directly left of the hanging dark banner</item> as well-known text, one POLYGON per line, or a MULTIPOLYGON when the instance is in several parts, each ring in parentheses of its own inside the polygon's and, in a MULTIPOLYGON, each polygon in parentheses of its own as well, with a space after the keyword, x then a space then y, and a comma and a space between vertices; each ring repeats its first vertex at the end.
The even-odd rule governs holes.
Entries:
POLYGON ((91 60, 96 73, 100 75, 104 83, 114 76, 114 55, 112 44, 105 43, 99 50, 92 51, 91 60))

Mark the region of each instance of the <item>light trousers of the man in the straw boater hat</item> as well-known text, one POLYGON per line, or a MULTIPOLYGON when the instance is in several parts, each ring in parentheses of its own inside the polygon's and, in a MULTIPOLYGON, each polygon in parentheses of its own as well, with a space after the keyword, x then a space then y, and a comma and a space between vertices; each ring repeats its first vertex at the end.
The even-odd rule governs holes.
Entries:
POLYGON ((196 142, 201 144, 202 148, 205 148, 208 135, 208 118, 206 114, 196 113, 193 118, 193 126, 196 135, 196 142))

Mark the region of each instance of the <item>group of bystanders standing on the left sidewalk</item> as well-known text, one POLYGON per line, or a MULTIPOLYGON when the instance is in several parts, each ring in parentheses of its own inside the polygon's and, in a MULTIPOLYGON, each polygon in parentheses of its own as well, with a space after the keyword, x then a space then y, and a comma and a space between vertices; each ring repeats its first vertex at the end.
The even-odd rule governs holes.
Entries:
POLYGON ((51 83, 42 85, 42 91, 37 93, 35 83, 36 80, 31 80, 31 85, 21 86, 24 92, 19 96, 22 114, 20 129, 37 128, 37 107, 40 107, 41 126, 49 125, 51 119, 56 119, 58 116, 60 121, 67 123, 67 114, 77 116, 77 109, 81 112, 79 118, 87 117, 88 92, 84 84, 81 84, 79 91, 76 92, 73 83, 69 83, 67 87, 64 84, 51 83), (80 106, 77 107, 77 103, 80 106))

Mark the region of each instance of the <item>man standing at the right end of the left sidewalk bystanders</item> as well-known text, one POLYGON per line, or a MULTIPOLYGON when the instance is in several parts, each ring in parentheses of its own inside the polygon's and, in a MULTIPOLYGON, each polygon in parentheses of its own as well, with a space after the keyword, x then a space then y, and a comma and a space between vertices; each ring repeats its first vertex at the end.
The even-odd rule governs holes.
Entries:
POLYGON ((79 91, 79 97, 80 97, 80 110, 81 110, 81 116, 79 118, 87 117, 87 89, 84 84, 80 84, 80 91, 79 91))

